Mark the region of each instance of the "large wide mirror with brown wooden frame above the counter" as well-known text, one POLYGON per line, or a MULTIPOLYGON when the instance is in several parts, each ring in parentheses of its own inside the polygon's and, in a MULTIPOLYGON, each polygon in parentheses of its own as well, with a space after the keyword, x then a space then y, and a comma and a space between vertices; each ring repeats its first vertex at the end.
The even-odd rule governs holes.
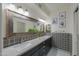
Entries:
POLYGON ((29 29, 35 31, 44 31, 44 24, 38 20, 16 13, 11 10, 6 10, 6 36, 11 36, 13 33, 28 32, 29 29))

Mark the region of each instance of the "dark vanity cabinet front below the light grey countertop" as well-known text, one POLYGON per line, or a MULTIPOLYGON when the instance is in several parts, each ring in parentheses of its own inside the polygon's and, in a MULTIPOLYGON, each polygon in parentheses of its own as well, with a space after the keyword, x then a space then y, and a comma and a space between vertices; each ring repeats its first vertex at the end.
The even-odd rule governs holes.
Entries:
POLYGON ((36 47, 32 48, 28 52, 25 52, 21 56, 45 56, 52 47, 52 39, 49 38, 46 41, 40 43, 36 47))

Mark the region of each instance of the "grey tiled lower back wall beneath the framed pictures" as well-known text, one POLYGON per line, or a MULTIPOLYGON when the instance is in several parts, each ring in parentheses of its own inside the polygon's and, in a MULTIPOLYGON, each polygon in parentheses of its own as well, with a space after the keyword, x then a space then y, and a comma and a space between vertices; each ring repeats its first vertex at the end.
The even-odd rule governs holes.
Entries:
POLYGON ((54 47, 72 52, 72 35, 70 33, 53 33, 54 47))

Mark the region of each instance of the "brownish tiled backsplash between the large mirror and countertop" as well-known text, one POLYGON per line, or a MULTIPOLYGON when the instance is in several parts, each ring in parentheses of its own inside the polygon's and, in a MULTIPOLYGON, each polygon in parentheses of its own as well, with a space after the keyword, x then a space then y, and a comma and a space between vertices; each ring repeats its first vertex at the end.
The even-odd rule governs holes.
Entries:
POLYGON ((44 36, 46 33, 14 33, 11 37, 6 37, 3 40, 3 47, 12 46, 25 41, 29 41, 40 36, 44 36))

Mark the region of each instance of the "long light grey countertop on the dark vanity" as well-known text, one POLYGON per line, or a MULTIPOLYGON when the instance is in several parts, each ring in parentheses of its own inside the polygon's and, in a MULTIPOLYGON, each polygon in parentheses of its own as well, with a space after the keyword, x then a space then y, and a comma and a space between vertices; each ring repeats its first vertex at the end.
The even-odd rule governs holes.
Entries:
POLYGON ((23 42, 21 44, 3 48, 2 55, 3 56, 21 55, 24 52, 27 52, 28 50, 32 49, 33 47, 37 46, 38 44, 47 40, 50 37, 51 37, 51 35, 45 35, 45 36, 30 40, 30 41, 23 42))

